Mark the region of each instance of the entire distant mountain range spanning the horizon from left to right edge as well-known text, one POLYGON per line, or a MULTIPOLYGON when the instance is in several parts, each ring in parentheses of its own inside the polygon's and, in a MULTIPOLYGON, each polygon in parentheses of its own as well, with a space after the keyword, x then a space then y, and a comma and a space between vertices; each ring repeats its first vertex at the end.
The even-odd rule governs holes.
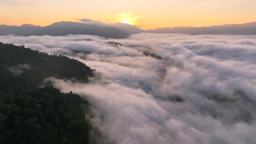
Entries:
POLYGON ((114 39, 123 39, 130 34, 137 33, 173 33, 173 34, 231 34, 231 35, 256 35, 256 22, 246 24, 214 25, 211 27, 173 27, 141 30, 135 25, 115 23, 106 24, 101 22, 55 22, 54 24, 41 27, 30 24, 21 26, 0 25, 0 36, 14 34, 17 36, 64 36, 67 34, 88 34, 114 39))

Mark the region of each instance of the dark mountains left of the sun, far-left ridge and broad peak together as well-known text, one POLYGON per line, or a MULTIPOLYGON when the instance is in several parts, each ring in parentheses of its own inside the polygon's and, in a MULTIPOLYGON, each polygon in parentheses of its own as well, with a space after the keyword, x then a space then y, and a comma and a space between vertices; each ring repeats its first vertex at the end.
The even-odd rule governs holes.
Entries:
POLYGON ((129 36, 115 27, 100 27, 98 25, 87 25, 80 22, 55 22, 54 24, 40 27, 34 25, 7 26, 0 25, 0 35, 15 34, 18 36, 65 36, 68 34, 88 34, 114 39, 122 39, 129 36))

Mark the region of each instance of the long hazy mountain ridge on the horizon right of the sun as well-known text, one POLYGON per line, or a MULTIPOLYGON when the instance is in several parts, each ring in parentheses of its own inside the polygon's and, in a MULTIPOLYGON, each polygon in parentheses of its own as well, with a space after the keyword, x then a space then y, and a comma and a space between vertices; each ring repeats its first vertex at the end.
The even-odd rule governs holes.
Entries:
POLYGON ((177 34, 231 34, 256 35, 256 22, 246 24, 214 25, 211 27, 174 27, 149 29, 150 33, 177 33, 177 34))

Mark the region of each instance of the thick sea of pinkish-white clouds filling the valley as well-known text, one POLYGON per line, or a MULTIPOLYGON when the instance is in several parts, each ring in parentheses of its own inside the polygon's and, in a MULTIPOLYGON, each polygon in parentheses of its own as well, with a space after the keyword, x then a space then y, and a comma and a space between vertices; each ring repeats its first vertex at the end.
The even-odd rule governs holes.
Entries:
POLYGON ((90 83, 54 81, 90 101, 110 143, 256 143, 256 36, 0 36, 0 42, 96 69, 90 83))

